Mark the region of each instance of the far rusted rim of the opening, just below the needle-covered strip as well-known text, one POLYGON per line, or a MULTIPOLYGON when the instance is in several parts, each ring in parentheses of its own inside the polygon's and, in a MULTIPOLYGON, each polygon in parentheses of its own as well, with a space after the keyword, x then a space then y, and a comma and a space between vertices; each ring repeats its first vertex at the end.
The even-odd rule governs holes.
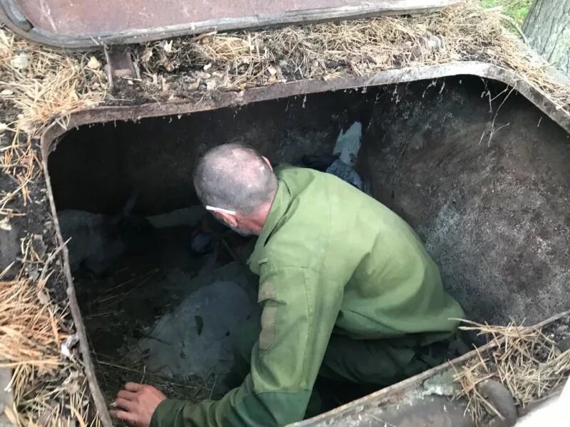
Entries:
POLYGON ((444 78, 452 75, 477 75, 489 78, 517 88, 519 93, 536 105, 566 132, 570 132, 570 112, 559 108, 544 93, 534 88, 527 80, 505 68, 489 63, 459 62, 444 65, 428 65, 415 68, 387 70, 366 76, 351 76, 331 80, 299 80, 291 83, 278 83, 253 88, 242 92, 212 93, 204 97, 197 93, 195 99, 173 102, 153 102, 150 104, 130 105, 128 107, 96 107, 78 110, 71 113, 68 127, 63 128, 57 123, 46 130, 43 139, 51 141, 65 133, 69 128, 94 122, 111 122, 113 120, 140 120, 145 117, 189 114, 197 111, 215 110, 217 108, 246 105, 251 102, 278 99, 289 96, 299 96, 309 93, 321 93, 334 90, 358 89, 368 86, 407 83, 417 80, 444 78))

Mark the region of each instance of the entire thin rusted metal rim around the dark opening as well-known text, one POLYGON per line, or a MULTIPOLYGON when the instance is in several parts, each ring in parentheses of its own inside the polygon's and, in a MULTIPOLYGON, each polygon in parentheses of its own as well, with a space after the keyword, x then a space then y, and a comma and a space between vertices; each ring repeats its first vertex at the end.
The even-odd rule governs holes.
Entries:
MULTIPOLYGON (((217 110, 224 107, 240 106, 246 105, 252 102, 259 102, 264 100, 279 99, 281 97, 290 96, 300 96, 310 93, 322 93, 327 91, 335 90, 346 90, 346 89, 358 89, 365 88, 372 85, 388 85, 394 83, 409 83, 417 80, 429 80, 435 78, 444 78, 454 75, 477 75, 482 78, 490 78, 494 80, 499 80, 502 83, 517 87, 522 95, 527 97, 534 105, 537 105, 540 110, 542 110, 546 115, 548 115, 554 122, 558 123, 561 127, 570 133, 570 114, 565 110, 561 110, 554 102, 549 100, 544 93, 534 88, 526 80, 522 79, 512 71, 506 70, 504 68, 499 68, 496 65, 489 63, 480 62, 465 62, 465 63, 447 63, 444 65, 428 65, 419 68, 404 68, 400 70, 388 70, 380 73, 375 73, 368 76, 352 76, 348 78, 335 78, 332 80, 300 80, 291 83, 279 83, 275 85, 265 86, 261 88, 252 88, 244 90, 240 93, 219 93, 217 96, 212 96, 209 99, 202 99, 202 95, 199 94, 195 99, 187 99, 179 102, 165 102, 165 103, 149 103, 134 106, 125 107, 93 107, 85 110, 76 110, 70 112, 68 124, 66 127, 61 125, 61 122, 53 122, 41 135, 40 149, 41 149, 41 162, 43 166, 43 173, 46 178, 46 186, 48 189, 48 199, 51 206, 51 214, 53 216, 54 223, 56 224, 56 234, 58 241, 63 245, 63 237, 61 236, 61 231, 59 228, 59 222, 56 214, 56 205, 53 200, 53 193, 51 189, 51 180, 48 171, 48 156, 50 152, 56 148, 56 139, 61 137, 61 135, 68 132, 73 127, 79 127, 81 125, 87 125, 90 123, 97 122, 112 122, 114 120, 140 120, 142 118, 148 117, 160 117, 166 115, 177 115, 177 114, 190 114, 192 112, 217 110)), ((83 355, 84 362, 86 364, 86 376, 88 377, 90 391, 93 394, 93 401, 95 407, 99 413, 101 421, 104 427, 110 427, 111 421, 108 413, 108 408, 105 404, 105 399, 103 399, 103 394, 98 386, 98 381, 95 376, 95 369, 93 367, 93 361, 90 357, 89 344, 87 340, 85 325, 83 324, 83 318, 81 317, 81 311, 76 300, 75 288, 73 285, 73 278, 71 276, 71 270, 69 268, 69 258, 67 248, 63 249, 64 264, 65 264, 65 274, 68 281, 68 296, 70 299, 71 315, 76 324, 76 328, 79 334, 80 349, 83 355)), ((563 313, 562 315, 566 315, 563 313)), ((559 315, 559 316, 562 316, 559 315)), ((556 317, 558 318, 558 317, 556 317)), ((545 325, 548 322, 554 320, 555 317, 551 317, 549 320, 539 323, 537 326, 545 325)), ((491 347, 484 346, 480 350, 488 350, 491 347)), ((369 399, 377 399, 379 396, 390 393, 395 389, 401 390, 405 387, 410 386, 410 384, 417 384, 418 381, 423 381, 433 374, 437 374, 443 369, 450 367, 452 363, 458 364, 464 362, 469 357, 472 357, 473 353, 466 354, 463 357, 455 359, 447 364, 440 365, 440 367, 435 367, 429 371, 425 371, 423 374, 418 376, 413 376, 410 379, 402 381, 395 386, 388 387, 387 389, 380 390, 374 394, 359 399, 358 402, 366 403, 369 399)), ((353 401, 350 404, 341 406, 334 410, 335 413, 339 411, 346 411, 351 405, 355 404, 357 401, 353 401)), ((323 414, 323 416, 326 414, 323 414)), ((311 418, 314 420, 314 418, 311 418)), ((297 423, 294 424, 296 427, 303 427, 306 424, 297 423)))

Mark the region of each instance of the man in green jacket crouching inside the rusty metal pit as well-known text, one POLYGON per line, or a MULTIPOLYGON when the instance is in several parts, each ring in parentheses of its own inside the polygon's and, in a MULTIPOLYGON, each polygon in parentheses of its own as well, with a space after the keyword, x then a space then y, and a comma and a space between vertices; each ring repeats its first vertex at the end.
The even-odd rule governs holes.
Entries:
POLYGON ((194 183, 219 221, 258 236, 248 262, 263 310, 250 373, 221 400, 199 404, 127 384, 115 416, 134 426, 284 426, 304 417, 318 374, 386 386, 443 362, 437 349, 447 349, 464 313, 388 208, 331 174, 274 172, 239 144, 207 152, 194 183))

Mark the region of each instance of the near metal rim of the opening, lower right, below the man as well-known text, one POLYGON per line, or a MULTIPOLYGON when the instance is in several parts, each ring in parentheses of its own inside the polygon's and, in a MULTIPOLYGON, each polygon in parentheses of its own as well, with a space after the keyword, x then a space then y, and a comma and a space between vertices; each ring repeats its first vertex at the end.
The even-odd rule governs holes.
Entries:
MULTIPOLYGON (((549 325, 552 322, 556 322, 556 320, 559 320, 562 317, 567 317, 569 315, 570 315, 570 310, 561 312, 531 327, 541 328, 546 325, 549 325)), ((455 367, 459 367, 460 365, 464 364, 470 359, 479 359, 481 357, 481 354, 489 352, 490 350, 494 349, 501 343, 502 340, 500 340, 499 342, 492 342, 490 344, 485 344, 484 346, 478 347, 477 349, 474 349, 467 354, 463 354, 461 357, 457 357, 453 360, 450 360, 445 364, 440 364, 439 366, 432 369, 428 369, 427 371, 424 371, 421 374, 411 376, 410 378, 405 379, 404 381, 400 381, 398 384, 386 387, 385 389, 380 389, 372 394, 368 394, 367 396, 362 397, 361 399, 351 401, 343 406, 338 406, 338 408, 334 408, 332 411, 321 413, 321 415, 315 416, 313 418, 309 418, 304 421, 299 421, 298 423, 288 424, 286 427, 309 427, 312 425, 312 423, 318 421, 326 421, 326 419, 331 416, 338 416, 341 413, 352 411, 353 408, 355 408, 356 406, 366 406, 370 404, 378 406, 378 404, 383 403, 382 401, 380 401, 380 399, 385 399, 388 398, 388 396, 394 396, 394 395, 401 396, 405 394, 407 391, 411 391, 416 386, 421 385, 423 381, 425 381, 426 379, 430 379, 432 376, 440 374, 443 371, 447 371, 447 369, 450 368, 455 369, 455 367)))

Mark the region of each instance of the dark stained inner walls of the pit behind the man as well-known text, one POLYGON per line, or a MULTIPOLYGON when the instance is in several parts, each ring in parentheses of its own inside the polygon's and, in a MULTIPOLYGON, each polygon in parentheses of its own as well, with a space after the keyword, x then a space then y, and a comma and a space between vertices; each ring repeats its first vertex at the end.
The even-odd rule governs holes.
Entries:
POLYGON ((246 142, 297 163, 330 153, 355 120, 358 169, 420 234, 470 317, 534 323, 569 307, 569 135, 515 91, 479 78, 83 127, 51 155, 56 204, 111 213, 138 191, 144 214, 188 206, 192 165, 208 147, 246 142))

